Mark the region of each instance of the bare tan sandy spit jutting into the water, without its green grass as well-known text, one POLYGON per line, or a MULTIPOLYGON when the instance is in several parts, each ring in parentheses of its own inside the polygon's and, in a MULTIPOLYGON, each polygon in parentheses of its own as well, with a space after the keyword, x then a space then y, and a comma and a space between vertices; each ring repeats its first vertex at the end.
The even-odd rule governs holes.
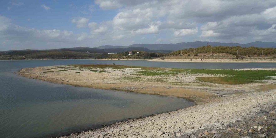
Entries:
POLYGON ((24 68, 18 74, 29 78, 74 86, 175 96, 194 101, 196 104, 218 101, 220 97, 231 93, 241 94, 276 88, 276 85, 273 84, 276 82, 275 80, 267 80, 267 83, 226 85, 196 80, 196 77, 212 76, 207 74, 147 76, 135 73, 142 71, 141 68, 116 70, 105 68, 98 69, 98 71, 104 72, 93 72, 90 69, 75 66, 46 66, 24 68), (59 70, 67 71, 56 72, 59 70))

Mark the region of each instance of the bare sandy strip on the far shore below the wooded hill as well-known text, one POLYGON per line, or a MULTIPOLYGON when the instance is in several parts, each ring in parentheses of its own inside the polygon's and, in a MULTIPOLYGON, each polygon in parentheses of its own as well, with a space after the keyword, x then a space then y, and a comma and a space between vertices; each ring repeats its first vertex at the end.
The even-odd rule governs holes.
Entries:
POLYGON ((257 63, 275 63, 276 59, 164 59, 161 60, 159 58, 150 60, 150 61, 160 61, 160 62, 225 62, 225 63, 250 63, 250 62, 257 62, 257 63))

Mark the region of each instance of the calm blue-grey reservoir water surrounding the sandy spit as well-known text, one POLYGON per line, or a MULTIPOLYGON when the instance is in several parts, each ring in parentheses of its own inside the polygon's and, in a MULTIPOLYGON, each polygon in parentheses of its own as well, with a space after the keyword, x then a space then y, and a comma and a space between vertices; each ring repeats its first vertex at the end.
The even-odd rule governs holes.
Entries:
POLYGON ((276 63, 0 61, 0 137, 54 137, 193 105, 192 102, 181 98, 74 87, 29 79, 13 73, 25 67, 112 63, 205 69, 276 67, 276 63))

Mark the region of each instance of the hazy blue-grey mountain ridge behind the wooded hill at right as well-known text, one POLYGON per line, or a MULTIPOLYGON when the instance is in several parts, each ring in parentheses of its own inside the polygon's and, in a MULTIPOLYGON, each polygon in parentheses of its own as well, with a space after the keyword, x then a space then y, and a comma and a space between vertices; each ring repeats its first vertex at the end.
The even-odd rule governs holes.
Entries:
POLYGON ((195 41, 195 42, 182 42, 177 44, 133 44, 129 46, 114 46, 114 45, 103 45, 95 48, 122 48, 122 47, 144 47, 148 48, 150 50, 181 50, 186 48, 197 48, 200 46, 206 46, 206 45, 212 45, 212 46, 241 46, 241 47, 269 47, 269 48, 276 48, 276 43, 274 42, 261 42, 256 41, 252 43, 247 44, 240 44, 240 43, 220 43, 220 42, 207 42, 207 41, 195 41))

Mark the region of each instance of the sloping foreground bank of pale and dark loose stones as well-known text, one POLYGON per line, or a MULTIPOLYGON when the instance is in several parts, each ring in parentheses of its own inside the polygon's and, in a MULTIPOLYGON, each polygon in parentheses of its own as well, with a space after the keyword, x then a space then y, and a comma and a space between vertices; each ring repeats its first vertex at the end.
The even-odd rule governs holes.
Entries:
POLYGON ((245 93, 59 138, 273 138, 275 102, 276 90, 245 93))

